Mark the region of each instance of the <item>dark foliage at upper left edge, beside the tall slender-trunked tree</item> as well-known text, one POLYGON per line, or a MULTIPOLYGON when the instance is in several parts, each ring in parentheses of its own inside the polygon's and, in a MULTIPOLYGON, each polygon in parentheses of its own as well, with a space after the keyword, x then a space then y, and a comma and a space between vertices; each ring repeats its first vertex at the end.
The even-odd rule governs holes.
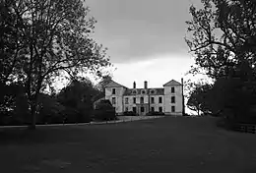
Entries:
POLYGON ((0 83, 6 85, 14 80, 22 79, 23 40, 19 37, 17 16, 12 4, 14 1, 0 2, 0 83), (20 78, 16 78, 16 77, 20 78))

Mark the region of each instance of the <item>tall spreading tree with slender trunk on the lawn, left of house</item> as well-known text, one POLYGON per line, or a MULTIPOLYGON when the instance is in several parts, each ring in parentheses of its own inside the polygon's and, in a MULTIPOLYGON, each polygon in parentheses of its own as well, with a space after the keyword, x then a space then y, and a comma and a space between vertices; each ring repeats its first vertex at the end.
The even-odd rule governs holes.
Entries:
POLYGON ((82 0, 4 2, 11 4, 16 19, 15 37, 22 46, 15 52, 23 55, 23 69, 17 74, 24 77, 34 129, 38 94, 54 77, 62 71, 73 75, 97 71, 110 63, 105 49, 91 37, 96 20, 88 16, 82 0))

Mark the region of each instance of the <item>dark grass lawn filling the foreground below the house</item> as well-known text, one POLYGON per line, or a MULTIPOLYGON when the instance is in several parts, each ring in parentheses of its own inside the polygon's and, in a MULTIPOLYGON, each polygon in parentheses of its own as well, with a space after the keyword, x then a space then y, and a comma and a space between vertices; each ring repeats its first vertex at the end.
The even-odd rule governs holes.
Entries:
POLYGON ((1 173, 255 173, 256 136, 214 118, 1 130, 1 173))

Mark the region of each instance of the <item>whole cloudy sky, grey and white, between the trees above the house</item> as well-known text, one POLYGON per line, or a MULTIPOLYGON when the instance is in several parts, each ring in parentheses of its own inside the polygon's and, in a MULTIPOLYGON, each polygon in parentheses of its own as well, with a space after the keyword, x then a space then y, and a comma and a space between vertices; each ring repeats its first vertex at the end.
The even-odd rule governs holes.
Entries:
POLYGON ((200 0, 86 0, 96 18, 94 38, 108 48, 126 87, 162 87, 180 81, 194 63, 184 41, 189 6, 200 0))

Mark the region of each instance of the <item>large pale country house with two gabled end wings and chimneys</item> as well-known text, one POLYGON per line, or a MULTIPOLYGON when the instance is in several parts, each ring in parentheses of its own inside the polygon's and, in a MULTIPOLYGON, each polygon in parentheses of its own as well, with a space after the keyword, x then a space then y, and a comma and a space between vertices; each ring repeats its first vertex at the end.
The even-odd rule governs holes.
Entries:
POLYGON ((171 80, 160 88, 124 87, 114 81, 105 86, 105 99, 109 99, 117 114, 133 111, 146 115, 150 111, 163 112, 165 115, 182 115, 184 112, 183 80, 181 84, 171 80))

